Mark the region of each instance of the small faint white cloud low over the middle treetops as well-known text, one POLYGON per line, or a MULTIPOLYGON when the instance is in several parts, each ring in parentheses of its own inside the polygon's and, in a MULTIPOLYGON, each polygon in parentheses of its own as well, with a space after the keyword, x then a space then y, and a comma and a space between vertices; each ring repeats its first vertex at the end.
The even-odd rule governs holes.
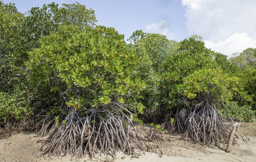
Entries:
POLYGON ((167 39, 173 38, 173 33, 170 31, 170 25, 168 20, 162 20, 160 22, 154 22, 146 25, 146 30, 149 33, 159 33, 167 37, 167 39))

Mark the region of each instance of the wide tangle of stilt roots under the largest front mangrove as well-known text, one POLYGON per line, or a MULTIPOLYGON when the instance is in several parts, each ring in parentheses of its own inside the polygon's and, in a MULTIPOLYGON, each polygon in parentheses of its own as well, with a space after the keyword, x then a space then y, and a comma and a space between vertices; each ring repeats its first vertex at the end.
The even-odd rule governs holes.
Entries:
POLYGON ((138 127, 121 109, 118 115, 106 109, 90 109, 83 113, 84 118, 76 111, 67 115, 64 122, 50 132, 42 154, 73 154, 76 158, 89 154, 93 158, 96 153, 114 157, 118 149, 128 155, 139 155, 151 149, 145 139, 141 140, 138 127))

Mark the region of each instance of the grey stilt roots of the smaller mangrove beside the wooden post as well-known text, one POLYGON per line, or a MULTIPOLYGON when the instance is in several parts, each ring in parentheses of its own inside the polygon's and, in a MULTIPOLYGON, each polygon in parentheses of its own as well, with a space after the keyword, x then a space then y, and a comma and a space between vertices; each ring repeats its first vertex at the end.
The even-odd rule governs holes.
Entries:
POLYGON ((227 143, 230 128, 223 122, 215 105, 211 106, 205 102, 191 107, 185 125, 186 130, 183 134, 185 141, 190 137, 195 143, 218 147, 220 143, 227 143))

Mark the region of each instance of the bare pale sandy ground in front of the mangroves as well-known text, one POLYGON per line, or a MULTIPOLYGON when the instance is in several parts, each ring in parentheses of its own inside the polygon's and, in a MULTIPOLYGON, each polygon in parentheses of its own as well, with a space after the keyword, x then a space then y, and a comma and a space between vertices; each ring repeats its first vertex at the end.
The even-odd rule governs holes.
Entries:
POLYGON ((232 146, 232 151, 226 153, 226 144, 218 147, 208 147, 185 141, 181 134, 165 133, 166 142, 153 143, 154 153, 145 152, 142 156, 125 155, 121 151, 116 158, 109 156, 96 156, 95 159, 83 158, 74 159, 71 155, 65 157, 48 157, 40 155, 40 140, 45 139, 36 137, 35 133, 19 133, 10 137, 0 139, 0 161, 1 162, 161 162, 161 161, 207 161, 207 162, 255 162, 256 161, 256 121, 253 123, 242 123, 240 132, 243 136, 238 136, 237 144, 232 146), (247 137, 250 139, 248 139, 247 137), (162 152, 162 153, 161 153, 162 152), (160 153, 163 154, 160 157, 160 153))

